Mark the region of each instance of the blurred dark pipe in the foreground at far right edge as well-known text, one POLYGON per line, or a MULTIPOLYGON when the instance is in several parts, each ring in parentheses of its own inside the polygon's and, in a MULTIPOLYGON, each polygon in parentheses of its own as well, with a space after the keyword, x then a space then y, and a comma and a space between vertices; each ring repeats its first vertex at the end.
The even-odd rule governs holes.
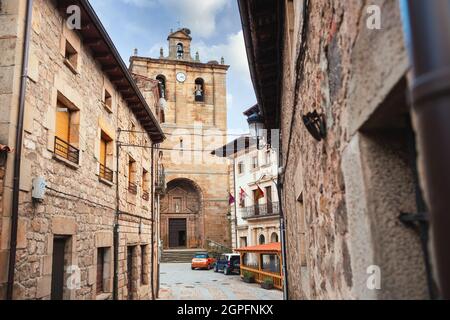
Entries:
POLYGON ((404 0, 411 93, 441 296, 450 299, 450 0, 404 0))

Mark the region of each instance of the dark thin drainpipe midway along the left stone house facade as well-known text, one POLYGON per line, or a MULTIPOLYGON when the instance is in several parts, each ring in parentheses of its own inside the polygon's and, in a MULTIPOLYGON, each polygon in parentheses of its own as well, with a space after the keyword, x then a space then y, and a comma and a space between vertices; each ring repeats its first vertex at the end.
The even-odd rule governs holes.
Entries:
POLYGON ((114 217, 114 277, 113 277, 113 299, 119 300, 119 214, 120 214, 120 192, 119 192, 119 160, 120 160, 120 133, 117 130, 116 139, 116 214, 114 217))

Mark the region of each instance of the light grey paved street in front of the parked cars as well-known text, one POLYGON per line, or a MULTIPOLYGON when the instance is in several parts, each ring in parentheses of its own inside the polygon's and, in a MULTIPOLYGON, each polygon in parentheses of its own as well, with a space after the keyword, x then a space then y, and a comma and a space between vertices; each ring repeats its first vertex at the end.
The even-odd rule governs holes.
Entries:
POLYGON ((186 263, 161 264, 160 300, 281 300, 278 290, 265 290, 213 270, 191 270, 186 263))

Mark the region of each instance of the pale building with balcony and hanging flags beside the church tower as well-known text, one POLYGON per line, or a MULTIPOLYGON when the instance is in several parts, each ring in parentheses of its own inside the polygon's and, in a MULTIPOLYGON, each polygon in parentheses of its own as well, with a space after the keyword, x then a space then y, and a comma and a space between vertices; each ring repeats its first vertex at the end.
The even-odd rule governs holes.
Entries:
POLYGON ((280 241, 277 193, 278 155, 242 136, 214 152, 230 161, 231 238, 233 249, 280 241), (258 194, 258 191, 262 191, 258 194))

